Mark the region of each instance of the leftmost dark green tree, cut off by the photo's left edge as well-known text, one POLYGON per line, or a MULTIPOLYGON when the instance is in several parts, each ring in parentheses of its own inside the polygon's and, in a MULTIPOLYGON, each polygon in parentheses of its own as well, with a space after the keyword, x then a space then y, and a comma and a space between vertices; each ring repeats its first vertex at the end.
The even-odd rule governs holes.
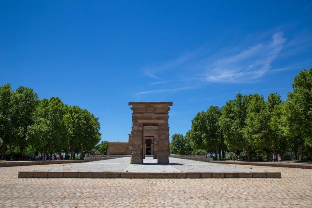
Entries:
POLYGON ((7 145, 12 143, 12 95, 11 84, 0 86, 0 137, 2 138, 1 154, 6 158, 7 145))

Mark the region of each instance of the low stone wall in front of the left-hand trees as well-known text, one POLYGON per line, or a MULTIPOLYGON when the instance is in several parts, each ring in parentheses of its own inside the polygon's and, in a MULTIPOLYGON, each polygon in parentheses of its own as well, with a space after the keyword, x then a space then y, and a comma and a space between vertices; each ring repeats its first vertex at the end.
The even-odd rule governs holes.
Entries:
POLYGON ((53 165, 53 164, 80 163, 80 162, 88 162, 88 160, 9 161, 9 162, 7 161, 7 162, 0 162, 0 167, 53 165))

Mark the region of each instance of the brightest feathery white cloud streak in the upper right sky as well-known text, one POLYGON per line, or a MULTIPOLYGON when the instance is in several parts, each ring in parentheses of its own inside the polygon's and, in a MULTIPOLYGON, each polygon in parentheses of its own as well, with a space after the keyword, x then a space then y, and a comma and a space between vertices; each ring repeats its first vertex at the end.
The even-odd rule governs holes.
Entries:
POLYGON ((279 55, 286 39, 283 33, 272 35, 269 42, 258 43, 238 54, 217 60, 208 67, 207 82, 246 82, 262 77, 271 69, 271 63, 279 55))

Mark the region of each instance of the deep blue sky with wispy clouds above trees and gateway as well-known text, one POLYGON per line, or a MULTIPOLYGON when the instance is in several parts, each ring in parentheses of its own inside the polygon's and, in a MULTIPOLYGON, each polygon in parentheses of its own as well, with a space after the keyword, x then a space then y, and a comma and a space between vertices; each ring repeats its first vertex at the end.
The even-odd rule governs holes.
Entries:
POLYGON ((128 141, 128 102, 173 102, 170 134, 242 94, 283 99, 312 67, 311 1, 0 1, 0 85, 60 97, 128 141))

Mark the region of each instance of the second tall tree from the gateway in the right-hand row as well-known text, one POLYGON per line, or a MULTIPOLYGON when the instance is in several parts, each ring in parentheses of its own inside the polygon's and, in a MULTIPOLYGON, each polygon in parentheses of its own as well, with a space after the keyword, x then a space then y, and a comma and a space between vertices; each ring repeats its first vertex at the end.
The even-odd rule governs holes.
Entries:
POLYGON ((245 150, 248 161, 251 159, 252 145, 244 134, 247 125, 247 109, 253 95, 241 95, 238 93, 234 100, 226 102, 223 106, 220 126, 224 135, 224 143, 230 151, 245 150))

